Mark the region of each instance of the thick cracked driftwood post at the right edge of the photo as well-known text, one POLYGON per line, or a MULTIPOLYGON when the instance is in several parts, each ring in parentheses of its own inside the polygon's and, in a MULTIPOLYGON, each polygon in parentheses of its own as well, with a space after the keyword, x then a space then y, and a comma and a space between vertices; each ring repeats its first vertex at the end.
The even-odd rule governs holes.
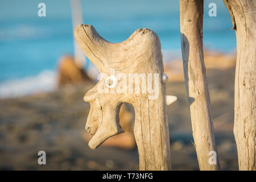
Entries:
POLYGON ((256 170, 256 1, 224 0, 237 36, 234 136, 240 170, 256 170))

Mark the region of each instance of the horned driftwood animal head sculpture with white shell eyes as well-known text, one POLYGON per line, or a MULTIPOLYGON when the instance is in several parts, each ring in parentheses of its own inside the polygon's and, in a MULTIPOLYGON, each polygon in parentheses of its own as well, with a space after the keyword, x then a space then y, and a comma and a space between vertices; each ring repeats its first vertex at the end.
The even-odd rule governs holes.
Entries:
POLYGON ((135 110, 139 168, 170 170, 166 105, 176 97, 166 96, 168 78, 163 73, 158 36, 143 28, 124 42, 110 43, 88 24, 78 25, 74 34, 82 51, 101 72, 100 81, 84 96, 91 106, 85 127, 94 135, 89 147, 97 148, 123 132, 118 113, 122 103, 128 102, 135 110))

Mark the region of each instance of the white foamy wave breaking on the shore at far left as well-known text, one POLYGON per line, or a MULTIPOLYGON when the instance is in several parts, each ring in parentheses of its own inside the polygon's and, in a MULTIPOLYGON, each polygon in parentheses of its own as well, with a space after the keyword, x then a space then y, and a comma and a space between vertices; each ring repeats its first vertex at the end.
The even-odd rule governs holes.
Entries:
POLYGON ((57 74, 45 70, 36 76, 24 77, 0 83, 0 98, 14 98, 51 92, 57 88, 57 74))

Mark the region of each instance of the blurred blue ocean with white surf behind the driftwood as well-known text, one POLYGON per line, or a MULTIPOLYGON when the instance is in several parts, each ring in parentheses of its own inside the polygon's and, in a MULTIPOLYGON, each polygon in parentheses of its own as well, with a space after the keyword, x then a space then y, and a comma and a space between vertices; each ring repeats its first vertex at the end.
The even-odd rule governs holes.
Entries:
MULTIPOLYGON (((138 28, 158 34, 164 60, 181 57, 179 1, 82 1, 84 23, 92 24, 110 42, 122 42, 138 28)), ((204 1, 204 47, 222 52, 236 49, 228 10, 220 0, 204 1), (208 15, 209 3, 217 16, 208 15)), ((15 97, 56 88, 57 60, 73 55, 69 0, 0 2, 0 97, 15 97), (38 4, 46 3, 46 17, 38 4)), ((87 60, 86 69, 90 69, 87 60)))

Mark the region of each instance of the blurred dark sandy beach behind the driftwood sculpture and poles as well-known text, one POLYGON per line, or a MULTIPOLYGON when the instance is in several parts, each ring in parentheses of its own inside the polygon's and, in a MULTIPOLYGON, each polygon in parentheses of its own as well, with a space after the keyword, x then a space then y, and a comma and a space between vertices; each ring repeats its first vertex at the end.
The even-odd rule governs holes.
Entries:
MULTIPOLYGON (((172 169, 199 170, 185 84, 169 77, 167 94, 178 98, 167 107, 172 169)), ((220 166, 237 170, 234 65, 223 69, 212 66, 207 69, 207 78, 220 166)), ((137 147, 88 147, 83 136, 90 105, 82 98, 93 86, 84 82, 51 93, 0 100, 0 170, 138 170, 137 147), (40 150, 46 151, 46 165, 38 164, 40 150)))

